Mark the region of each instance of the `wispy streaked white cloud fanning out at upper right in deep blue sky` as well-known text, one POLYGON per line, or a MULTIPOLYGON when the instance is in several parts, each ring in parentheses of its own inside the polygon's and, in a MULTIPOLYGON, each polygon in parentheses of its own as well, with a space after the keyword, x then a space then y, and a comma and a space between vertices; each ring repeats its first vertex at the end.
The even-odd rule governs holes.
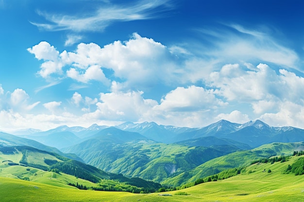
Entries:
POLYGON ((199 46, 202 57, 217 60, 220 63, 266 62, 296 68, 297 53, 280 45, 268 31, 249 30, 240 25, 227 25, 229 29, 198 30, 204 40, 211 43, 208 48, 199 46), (235 31, 231 31, 231 28, 235 31))

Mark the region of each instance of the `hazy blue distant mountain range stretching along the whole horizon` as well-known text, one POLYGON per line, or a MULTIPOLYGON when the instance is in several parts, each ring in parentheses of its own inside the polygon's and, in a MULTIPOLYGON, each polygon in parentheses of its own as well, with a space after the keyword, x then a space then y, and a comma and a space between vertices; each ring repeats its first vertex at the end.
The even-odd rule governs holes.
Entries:
POLYGON ((121 131, 135 132, 150 140, 163 143, 174 143, 209 136, 236 140, 240 143, 248 144, 251 147, 257 147, 274 141, 296 142, 304 140, 303 129, 291 126, 273 127, 260 120, 250 121, 244 124, 220 120, 217 123, 200 128, 158 125, 154 122, 144 122, 140 124, 126 122, 117 126, 100 126, 93 124, 88 128, 63 125, 48 131, 33 132, 35 131, 34 129, 28 129, 22 130, 23 134, 20 131, 15 132, 15 134, 24 138, 37 140, 49 146, 64 148, 88 140, 90 137, 109 127, 115 127, 121 131), (73 133, 74 136, 71 133, 73 133), (56 139, 56 141, 51 141, 50 139, 52 137, 56 139), (59 137, 61 137, 62 140, 60 140, 59 137))

